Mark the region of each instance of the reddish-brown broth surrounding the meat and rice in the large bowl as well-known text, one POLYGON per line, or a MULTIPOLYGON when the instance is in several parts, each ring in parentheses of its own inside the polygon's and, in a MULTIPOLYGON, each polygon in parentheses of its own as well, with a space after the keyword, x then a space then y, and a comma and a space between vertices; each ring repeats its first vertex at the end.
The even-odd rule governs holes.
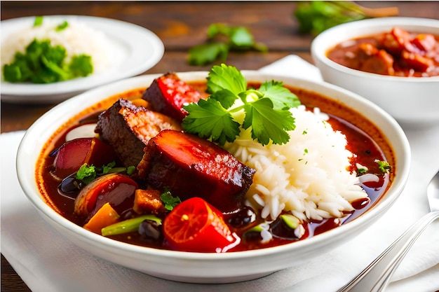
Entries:
MULTIPOLYGON (((204 92, 205 90, 205 82, 198 83, 190 83, 192 86, 204 92)), ((259 84, 251 83, 249 86, 257 88, 259 84)), ((290 88, 290 87, 289 87, 290 88)), ((396 174, 395 169, 395 158, 393 156, 393 150, 389 142, 386 140, 386 137, 381 134, 379 129, 370 123, 367 118, 365 118, 361 113, 354 111, 353 109, 349 109, 348 107, 340 104, 339 102, 328 99, 323 95, 320 95, 316 92, 310 92, 307 90, 302 90, 299 88, 290 88, 292 92, 294 92, 302 104, 305 104, 307 107, 312 109, 313 107, 320 107, 320 109, 328 113, 330 115, 330 120, 328 122, 334 127, 335 130, 340 130, 343 132, 348 140, 348 148, 351 152, 356 153, 356 158, 352 161, 352 165, 355 166, 356 162, 360 163, 360 165, 365 165, 370 169, 372 173, 379 173, 378 165, 374 162, 375 159, 378 160, 386 160, 392 166, 392 170, 390 174, 386 174, 384 176, 380 176, 378 183, 369 183, 365 186, 365 190, 367 191, 370 202, 362 208, 359 208, 353 211, 352 214, 346 216, 342 219, 329 219, 323 222, 311 222, 305 228, 305 234, 302 239, 309 238, 313 235, 316 235, 321 232, 325 232, 326 230, 330 230, 332 228, 336 228, 338 225, 341 225, 344 222, 351 221, 354 218, 358 217, 360 214, 363 214, 365 211, 370 209, 379 198, 386 192, 389 188, 393 176, 396 174), (348 122, 349 120, 349 122, 348 122), (367 134, 366 134, 367 132, 367 134)), ((47 141, 43 150, 41 151, 41 155, 39 157, 39 161, 36 165, 36 180, 39 184, 39 190, 46 200, 47 204, 50 205, 55 211, 58 211, 62 216, 67 218, 69 221, 72 221, 78 225, 83 225, 83 218, 77 218, 74 215, 74 200, 69 199, 67 197, 63 197, 58 193, 58 185, 60 181, 56 181, 53 176, 50 174, 50 169, 53 168, 53 157, 50 157, 50 152, 60 147, 65 142, 65 135, 72 127, 76 127, 81 125, 81 123, 90 123, 97 119, 97 115, 104 111, 105 109, 112 106, 116 100, 119 98, 125 99, 137 99, 142 97, 142 92, 144 88, 130 90, 128 92, 123 92, 119 95, 114 95, 109 97, 108 99, 103 100, 91 106, 88 109, 85 109, 81 113, 78 113, 76 116, 71 118, 68 123, 62 125, 57 132, 55 132, 49 141, 47 141)), ((353 205, 363 205, 367 202, 353 202, 353 205)), ((129 204, 130 202, 128 202, 129 204)), ((128 208, 129 206, 127 206, 128 208)), ((225 215, 224 218, 227 221, 228 215, 225 215)), ((252 223, 252 225, 257 225, 260 223, 256 221, 252 223)), ((230 227, 230 226, 229 226, 230 227)), ((241 237, 245 230, 248 230, 249 226, 245 228, 233 228, 231 230, 236 232, 237 235, 241 237)), ((158 249, 168 249, 168 246, 161 244, 160 242, 145 242, 137 232, 131 232, 125 235, 116 235, 112 238, 117 239, 122 242, 129 242, 132 244, 142 245, 142 246, 151 246, 158 249)), ((300 239, 300 240, 302 240, 300 239)), ((276 246, 281 244, 291 243, 291 240, 287 239, 279 239, 273 238, 271 242, 267 244, 259 244, 259 242, 247 242, 241 240, 241 244, 234 247, 230 251, 242 251, 248 249, 259 249, 269 246, 276 246)))

